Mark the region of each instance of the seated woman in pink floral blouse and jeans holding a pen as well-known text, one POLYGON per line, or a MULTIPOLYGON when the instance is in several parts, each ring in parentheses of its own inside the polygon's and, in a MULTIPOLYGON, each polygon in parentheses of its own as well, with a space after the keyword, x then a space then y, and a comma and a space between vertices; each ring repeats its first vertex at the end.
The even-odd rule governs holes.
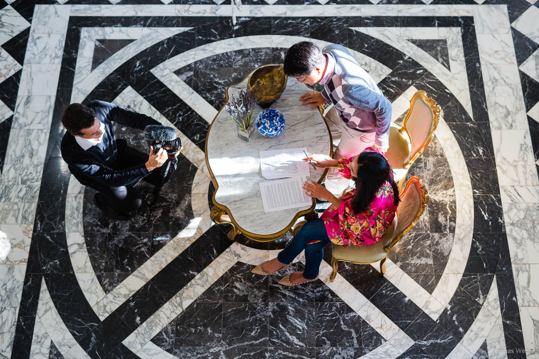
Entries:
POLYGON ((399 204, 399 189, 393 180, 391 166, 374 147, 368 147, 348 159, 325 159, 324 156, 310 154, 305 160, 313 160, 315 166, 321 168, 339 168, 344 177, 356 182, 356 188, 337 199, 326 187, 314 181, 303 184, 303 190, 309 197, 324 198, 331 202, 331 206, 319 220, 303 224, 277 258, 252 270, 267 276, 286 269, 305 250, 305 271, 282 278, 279 283, 286 286, 316 280, 323 248, 330 242, 343 246, 378 242, 393 221, 399 204))

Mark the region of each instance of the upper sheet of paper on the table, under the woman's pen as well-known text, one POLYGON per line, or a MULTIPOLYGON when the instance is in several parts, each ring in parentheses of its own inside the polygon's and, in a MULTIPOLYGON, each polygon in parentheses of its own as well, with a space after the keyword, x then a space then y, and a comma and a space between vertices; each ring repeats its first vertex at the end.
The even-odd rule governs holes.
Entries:
POLYGON ((260 167, 265 179, 310 176, 310 164, 303 161, 306 147, 302 149, 283 149, 260 151, 260 167))

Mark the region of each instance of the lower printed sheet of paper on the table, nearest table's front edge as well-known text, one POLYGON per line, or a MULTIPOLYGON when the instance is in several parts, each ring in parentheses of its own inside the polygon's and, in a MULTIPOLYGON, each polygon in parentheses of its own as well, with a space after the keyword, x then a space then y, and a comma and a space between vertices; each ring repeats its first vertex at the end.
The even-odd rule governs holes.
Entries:
POLYGON ((260 182, 264 212, 310 206, 313 200, 301 188, 305 176, 296 176, 280 180, 260 182))

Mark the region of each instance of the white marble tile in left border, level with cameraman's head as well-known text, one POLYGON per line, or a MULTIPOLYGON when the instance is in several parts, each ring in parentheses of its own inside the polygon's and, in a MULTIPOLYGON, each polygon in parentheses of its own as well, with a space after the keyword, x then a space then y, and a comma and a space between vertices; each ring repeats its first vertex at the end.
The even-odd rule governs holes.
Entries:
POLYGON ((12 129, 50 129, 55 96, 19 96, 12 129))

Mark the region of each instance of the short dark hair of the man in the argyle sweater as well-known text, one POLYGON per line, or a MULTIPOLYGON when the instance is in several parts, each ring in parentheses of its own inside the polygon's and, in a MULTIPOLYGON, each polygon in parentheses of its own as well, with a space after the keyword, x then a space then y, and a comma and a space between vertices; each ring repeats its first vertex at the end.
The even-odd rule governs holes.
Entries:
POLYGON ((307 76, 313 68, 325 63, 320 47, 310 41, 301 41, 288 49, 284 71, 287 76, 307 76))

